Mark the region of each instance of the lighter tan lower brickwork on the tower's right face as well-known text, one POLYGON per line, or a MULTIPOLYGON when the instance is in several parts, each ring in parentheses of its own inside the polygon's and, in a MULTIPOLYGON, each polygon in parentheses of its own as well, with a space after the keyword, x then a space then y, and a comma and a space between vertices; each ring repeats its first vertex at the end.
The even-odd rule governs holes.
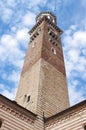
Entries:
POLYGON ((41 59, 37 113, 52 116, 69 107, 65 76, 41 59))

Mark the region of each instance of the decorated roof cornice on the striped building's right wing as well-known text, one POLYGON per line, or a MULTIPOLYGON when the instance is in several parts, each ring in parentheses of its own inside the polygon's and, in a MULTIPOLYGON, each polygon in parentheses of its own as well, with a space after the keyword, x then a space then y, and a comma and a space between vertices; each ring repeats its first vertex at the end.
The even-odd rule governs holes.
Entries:
POLYGON ((82 116, 82 113, 86 113, 86 100, 83 102, 80 102, 60 113, 57 113, 56 115, 45 118, 45 124, 46 127, 54 125, 56 123, 61 123, 69 120, 70 118, 82 116))

